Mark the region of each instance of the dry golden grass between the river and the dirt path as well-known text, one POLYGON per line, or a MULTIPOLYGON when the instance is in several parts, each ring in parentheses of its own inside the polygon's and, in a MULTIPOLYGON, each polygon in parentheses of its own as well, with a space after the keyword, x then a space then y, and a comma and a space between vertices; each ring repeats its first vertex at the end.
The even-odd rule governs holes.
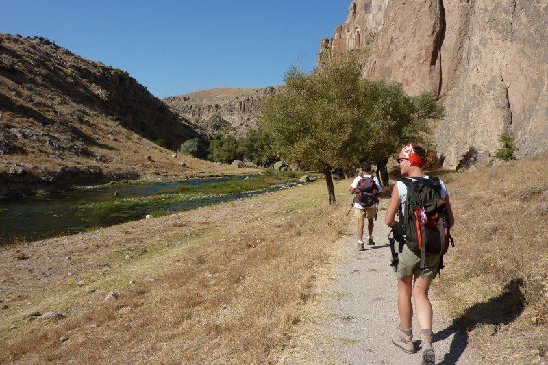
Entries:
MULTIPOLYGON (((346 184, 336 186, 342 191, 346 184)), ((334 217, 346 207, 328 207, 327 197, 319 201, 324 190, 319 181, 208 208, 210 216, 225 218, 189 225, 190 238, 173 224, 171 231, 162 225, 167 234, 162 242, 143 242, 157 250, 153 256, 118 269, 112 264, 112 279, 98 281, 95 286, 102 287, 97 294, 42 292, 49 301, 67 299, 65 319, 25 325, 21 311, 14 312, 11 320, 19 319, 21 329, 0 331, 0 362, 276 362, 290 329, 301 319, 301 308, 316 295, 318 271, 332 260, 333 242, 344 224, 334 217), (208 231, 200 234, 198 227, 204 226, 208 231), (183 239, 181 246, 160 249, 166 241, 183 239), (140 279, 130 286, 127 275, 140 279), (104 293, 112 288, 120 299, 105 303, 104 293), (60 342, 60 336, 69 340, 60 342)), ((188 214, 192 212, 143 224, 188 214)), ((94 253, 90 255, 92 259, 94 253)))

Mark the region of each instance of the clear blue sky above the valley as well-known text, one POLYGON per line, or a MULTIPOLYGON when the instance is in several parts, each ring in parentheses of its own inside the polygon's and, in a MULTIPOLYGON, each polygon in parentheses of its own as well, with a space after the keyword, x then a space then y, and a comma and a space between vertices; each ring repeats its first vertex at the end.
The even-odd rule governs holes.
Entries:
POLYGON ((0 32, 44 36, 122 68, 156 96, 282 82, 311 71, 349 0, 0 0, 0 32))

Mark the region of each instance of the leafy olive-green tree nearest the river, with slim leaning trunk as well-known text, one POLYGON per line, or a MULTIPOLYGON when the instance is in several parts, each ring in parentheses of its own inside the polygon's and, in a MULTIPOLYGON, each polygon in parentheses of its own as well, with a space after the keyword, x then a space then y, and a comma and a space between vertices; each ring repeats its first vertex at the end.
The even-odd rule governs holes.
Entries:
POLYGON ((270 136, 273 151, 322 171, 329 203, 335 202, 332 168, 359 160, 354 149, 361 69, 356 53, 324 58, 321 68, 310 75, 292 67, 285 76, 285 90, 262 108, 260 126, 270 136))

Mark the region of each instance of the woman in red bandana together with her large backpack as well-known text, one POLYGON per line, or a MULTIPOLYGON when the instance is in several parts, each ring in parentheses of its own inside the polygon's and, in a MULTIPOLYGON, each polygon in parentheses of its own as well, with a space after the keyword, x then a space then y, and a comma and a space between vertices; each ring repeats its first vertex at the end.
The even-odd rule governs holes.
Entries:
POLYGON ((421 327, 422 364, 435 363, 432 348, 432 304, 428 290, 432 279, 443 268, 443 254, 453 239, 449 230, 455 223, 447 188, 437 177, 425 175, 424 168, 436 166, 435 151, 426 151, 419 144, 403 147, 397 159, 401 175, 392 190, 385 223, 392 227, 395 240, 393 269, 398 284, 399 335, 392 342, 406 353, 415 353, 411 320, 413 307, 421 327), (399 222, 395 221, 399 213, 399 222))

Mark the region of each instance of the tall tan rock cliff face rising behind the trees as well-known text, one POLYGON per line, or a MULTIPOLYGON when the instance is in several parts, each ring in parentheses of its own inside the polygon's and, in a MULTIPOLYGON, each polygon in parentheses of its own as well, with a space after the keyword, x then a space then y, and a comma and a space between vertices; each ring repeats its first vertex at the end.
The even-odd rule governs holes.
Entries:
POLYGON ((368 47, 364 77, 436 95, 445 166, 471 148, 493 156, 502 131, 520 156, 546 149, 548 0, 358 0, 349 13, 321 49, 368 47))

